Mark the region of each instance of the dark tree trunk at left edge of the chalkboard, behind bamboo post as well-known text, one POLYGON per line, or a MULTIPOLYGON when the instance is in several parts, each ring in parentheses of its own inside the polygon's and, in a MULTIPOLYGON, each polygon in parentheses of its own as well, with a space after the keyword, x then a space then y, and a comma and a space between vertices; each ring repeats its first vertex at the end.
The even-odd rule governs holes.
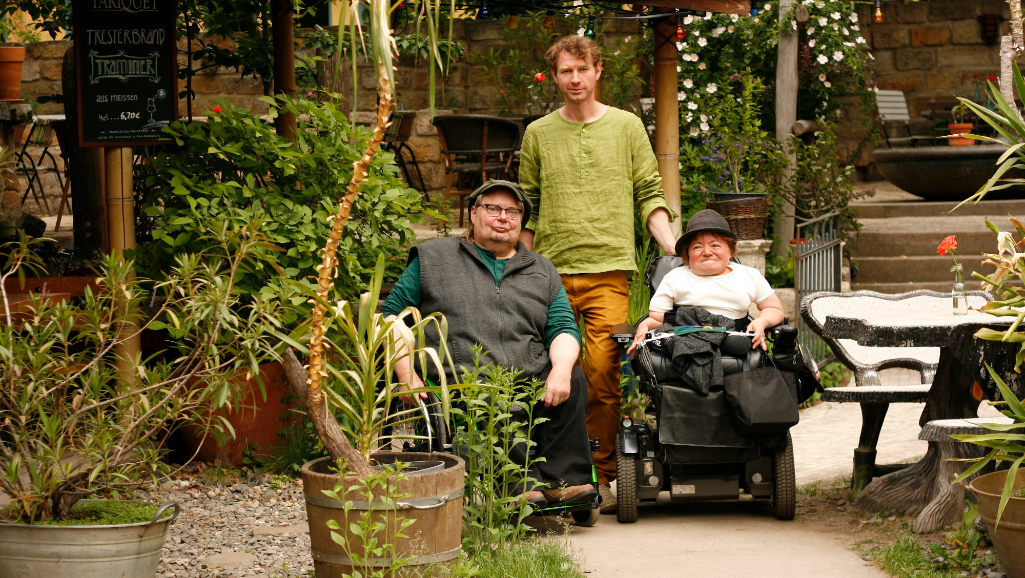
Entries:
POLYGON ((93 258, 108 250, 106 196, 104 195, 104 150, 78 146, 78 93, 75 81, 75 50, 65 52, 61 90, 68 118, 71 159, 72 215, 75 219, 75 254, 93 258))

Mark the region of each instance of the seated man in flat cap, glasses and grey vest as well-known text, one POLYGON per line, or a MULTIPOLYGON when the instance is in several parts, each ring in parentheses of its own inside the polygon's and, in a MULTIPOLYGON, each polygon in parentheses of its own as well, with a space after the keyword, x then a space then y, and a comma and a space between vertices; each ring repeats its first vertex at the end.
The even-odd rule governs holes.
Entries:
MULTIPOLYGON (((533 415, 548 421, 535 425, 532 437, 534 457, 545 459, 530 472, 541 487, 524 497, 541 507, 588 502, 597 490, 590 485, 587 385, 574 365, 580 331, 566 289, 551 261, 520 242, 532 205, 518 183, 488 180, 468 201, 466 233, 413 247, 381 313, 385 319, 407 306, 424 316, 440 313, 448 320, 448 347, 456 367, 473 367, 470 347, 480 343, 489 352, 484 363, 516 367, 523 371, 521 379, 543 381, 544 399, 533 415)), ((429 342, 438 335, 434 325, 427 327, 429 342)), ((406 364, 397 364, 396 374, 422 386, 406 364)), ((406 396, 404 401, 414 400, 406 396)))

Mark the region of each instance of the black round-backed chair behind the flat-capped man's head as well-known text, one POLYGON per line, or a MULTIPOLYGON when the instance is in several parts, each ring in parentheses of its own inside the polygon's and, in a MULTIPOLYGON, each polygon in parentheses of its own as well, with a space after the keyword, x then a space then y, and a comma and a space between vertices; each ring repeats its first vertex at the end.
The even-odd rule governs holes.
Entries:
POLYGON ((459 226, 463 225, 464 197, 491 176, 508 174, 512 153, 520 143, 517 123, 488 115, 435 117, 445 156, 445 198, 459 196, 459 226))

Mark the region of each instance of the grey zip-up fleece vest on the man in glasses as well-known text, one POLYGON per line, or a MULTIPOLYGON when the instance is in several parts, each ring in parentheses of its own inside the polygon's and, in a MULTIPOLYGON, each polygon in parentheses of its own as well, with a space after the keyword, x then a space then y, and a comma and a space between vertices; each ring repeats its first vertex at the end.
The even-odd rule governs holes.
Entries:
MULTIPOLYGON (((412 248, 410 258, 416 255, 420 313, 440 313, 448 320, 448 347, 456 368, 473 368, 470 347, 481 343, 490 352, 482 366, 491 362, 512 366, 528 379, 548 369, 544 328, 548 306, 563 286, 551 261, 519 243, 496 285, 477 247, 465 239, 428 241, 412 248)), ((438 342, 434 325, 427 328, 426 342, 438 342)), ((449 372, 448 363, 445 371, 449 372)))

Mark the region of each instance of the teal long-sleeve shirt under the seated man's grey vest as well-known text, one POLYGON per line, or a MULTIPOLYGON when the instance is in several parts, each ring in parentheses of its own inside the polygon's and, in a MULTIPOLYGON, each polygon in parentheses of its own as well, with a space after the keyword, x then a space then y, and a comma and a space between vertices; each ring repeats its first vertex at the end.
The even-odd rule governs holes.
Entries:
MULTIPOLYGON (((481 247, 477 247, 477 252, 491 270, 495 285, 499 285, 508 259, 496 258, 494 253, 481 247)), ((381 303, 381 314, 399 315, 406 307, 418 306, 420 306, 420 257, 416 256, 406 266, 392 293, 381 303)), ((569 333, 580 342, 580 328, 577 327, 576 319, 573 317, 573 307, 570 306, 570 299, 566 296, 566 289, 561 287, 556 300, 548 305, 548 319, 544 325, 544 344, 550 347, 560 333, 569 333)))

